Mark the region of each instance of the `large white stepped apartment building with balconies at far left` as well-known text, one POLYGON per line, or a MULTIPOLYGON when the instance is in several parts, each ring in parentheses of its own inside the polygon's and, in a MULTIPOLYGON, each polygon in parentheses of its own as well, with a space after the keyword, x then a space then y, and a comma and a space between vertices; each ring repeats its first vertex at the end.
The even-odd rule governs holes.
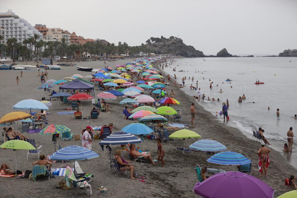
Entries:
POLYGON ((10 38, 16 38, 18 42, 22 43, 24 39, 33 37, 34 34, 39 34, 38 40, 42 40, 42 34, 36 28, 11 10, 0 13, 0 27, 4 27, 4 42, 10 38))

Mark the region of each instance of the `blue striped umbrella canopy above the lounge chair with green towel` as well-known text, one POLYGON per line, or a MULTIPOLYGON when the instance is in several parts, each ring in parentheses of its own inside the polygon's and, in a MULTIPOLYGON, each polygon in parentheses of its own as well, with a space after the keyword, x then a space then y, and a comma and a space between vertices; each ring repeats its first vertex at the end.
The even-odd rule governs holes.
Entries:
POLYGON ((81 146, 67 146, 51 154, 49 159, 61 161, 79 161, 99 157, 97 153, 81 146))

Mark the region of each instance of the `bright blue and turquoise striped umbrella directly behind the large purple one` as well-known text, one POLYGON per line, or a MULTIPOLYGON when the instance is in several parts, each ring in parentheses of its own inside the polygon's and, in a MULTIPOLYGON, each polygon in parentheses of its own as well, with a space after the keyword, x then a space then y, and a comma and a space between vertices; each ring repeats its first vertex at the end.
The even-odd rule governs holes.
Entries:
POLYGON ((214 163, 214 164, 222 164, 222 165, 243 165, 251 163, 252 161, 247 159, 240 153, 225 151, 221 153, 217 153, 206 161, 214 163))

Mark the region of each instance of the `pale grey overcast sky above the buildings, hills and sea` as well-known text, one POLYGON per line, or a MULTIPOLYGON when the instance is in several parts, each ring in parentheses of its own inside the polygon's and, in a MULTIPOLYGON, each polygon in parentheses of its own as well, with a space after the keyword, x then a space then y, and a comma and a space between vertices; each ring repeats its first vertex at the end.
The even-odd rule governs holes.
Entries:
POLYGON ((0 0, 0 12, 110 43, 175 36, 204 54, 278 54, 297 48, 297 0, 0 0))

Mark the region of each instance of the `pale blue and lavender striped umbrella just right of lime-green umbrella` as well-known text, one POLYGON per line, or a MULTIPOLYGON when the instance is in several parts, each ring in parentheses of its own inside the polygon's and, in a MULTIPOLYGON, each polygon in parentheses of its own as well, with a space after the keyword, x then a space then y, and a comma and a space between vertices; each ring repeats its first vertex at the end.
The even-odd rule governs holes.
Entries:
POLYGON ((197 151, 209 151, 209 152, 217 152, 217 151, 225 151, 227 148, 221 144, 220 142, 214 140, 198 140, 189 146, 190 149, 197 151))

